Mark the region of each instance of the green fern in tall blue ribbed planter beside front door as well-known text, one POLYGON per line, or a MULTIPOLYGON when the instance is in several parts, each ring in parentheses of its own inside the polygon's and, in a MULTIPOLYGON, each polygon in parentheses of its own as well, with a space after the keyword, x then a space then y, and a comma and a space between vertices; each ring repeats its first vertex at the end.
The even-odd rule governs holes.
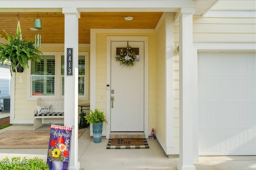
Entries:
POLYGON ((102 125, 103 122, 107 122, 103 111, 99 111, 95 109, 94 111, 90 110, 91 114, 84 116, 86 118, 87 123, 92 125, 92 132, 93 132, 93 142, 94 143, 101 143, 101 136, 102 136, 102 125))

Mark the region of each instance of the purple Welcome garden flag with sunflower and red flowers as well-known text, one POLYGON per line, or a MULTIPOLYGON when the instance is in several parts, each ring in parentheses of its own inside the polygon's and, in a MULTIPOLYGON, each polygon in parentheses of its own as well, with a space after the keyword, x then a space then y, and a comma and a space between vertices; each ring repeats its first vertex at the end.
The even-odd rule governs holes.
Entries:
POLYGON ((68 170, 72 127, 51 125, 47 164, 50 170, 68 170))

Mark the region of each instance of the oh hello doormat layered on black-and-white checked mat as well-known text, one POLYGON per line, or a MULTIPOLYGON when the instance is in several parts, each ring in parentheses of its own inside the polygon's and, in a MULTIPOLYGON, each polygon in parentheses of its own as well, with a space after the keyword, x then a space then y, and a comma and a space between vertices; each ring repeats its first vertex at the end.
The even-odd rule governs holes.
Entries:
POLYGON ((149 149, 147 139, 114 138, 108 140, 106 149, 149 149))

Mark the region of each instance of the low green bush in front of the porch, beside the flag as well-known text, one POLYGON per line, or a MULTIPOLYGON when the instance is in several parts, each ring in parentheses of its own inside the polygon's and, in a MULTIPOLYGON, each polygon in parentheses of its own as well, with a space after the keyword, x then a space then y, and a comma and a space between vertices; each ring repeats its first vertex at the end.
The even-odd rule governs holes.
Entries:
POLYGON ((20 157, 6 158, 0 160, 1 170, 49 170, 48 164, 41 158, 35 157, 33 159, 27 159, 24 157, 22 160, 20 157))

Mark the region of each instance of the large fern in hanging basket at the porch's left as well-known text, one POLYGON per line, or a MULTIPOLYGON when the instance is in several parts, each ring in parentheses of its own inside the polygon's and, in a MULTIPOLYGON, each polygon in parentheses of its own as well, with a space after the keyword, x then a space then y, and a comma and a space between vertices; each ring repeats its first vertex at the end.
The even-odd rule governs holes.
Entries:
MULTIPOLYGON (((3 30, 5 33, 6 31, 3 30)), ((2 36, 2 35, 0 35, 2 36)), ((42 52, 34 47, 33 40, 22 41, 20 26, 14 34, 6 33, 8 43, 0 44, 0 63, 10 64, 10 72, 24 72, 28 68, 28 61, 40 62, 42 52)))

